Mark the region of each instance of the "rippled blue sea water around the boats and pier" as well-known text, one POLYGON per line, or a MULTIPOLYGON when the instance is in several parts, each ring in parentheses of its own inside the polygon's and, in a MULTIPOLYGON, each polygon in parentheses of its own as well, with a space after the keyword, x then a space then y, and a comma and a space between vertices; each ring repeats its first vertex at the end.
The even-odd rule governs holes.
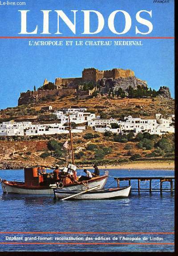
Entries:
MULTIPOLYGON (((174 176, 174 171, 109 170, 109 175, 105 186, 113 188, 115 176, 166 177, 174 176)), ((0 170, 0 177, 24 180, 24 172, 0 170)), ((120 186, 125 185, 128 181, 120 181, 120 186)), ((138 181, 131 180, 131 185, 137 188, 138 181)), ((152 180, 152 187, 159 189, 159 180, 152 180)), ((149 181, 141 181, 141 188, 149 188, 149 181)), ((170 189, 170 183, 164 182, 163 188, 170 189)), ((170 192, 133 191, 128 198, 115 200, 55 201, 53 195, 3 194, 0 188, 0 251, 173 252, 171 232, 174 194, 170 192)))

